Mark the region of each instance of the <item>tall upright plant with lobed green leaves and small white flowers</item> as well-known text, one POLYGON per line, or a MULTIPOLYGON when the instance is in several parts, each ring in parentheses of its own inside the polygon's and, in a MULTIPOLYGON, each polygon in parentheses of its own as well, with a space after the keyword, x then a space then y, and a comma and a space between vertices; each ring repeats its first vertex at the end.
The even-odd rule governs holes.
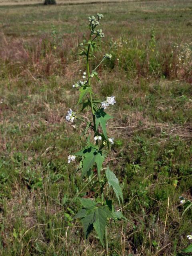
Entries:
POLYGON ((106 97, 103 101, 98 100, 92 88, 93 79, 101 83, 98 73, 96 72, 97 68, 104 60, 110 60, 112 56, 105 54, 100 63, 93 70, 89 63, 90 54, 94 56, 94 51, 98 47, 98 41, 104 38, 102 29, 97 29, 100 26, 99 21, 102 18, 102 14, 97 14, 97 19, 94 16, 89 17, 88 29, 90 30, 90 36, 86 43, 80 44, 80 52, 78 53, 85 57, 86 71, 83 72, 83 81, 80 80, 73 85, 73 88, 79 91, 78 104, 82 105, 82 110, 85 108, 90 110, 90 120, 87 122, 80 114, 76 114, 70 109, 68 110, 66 121, 74 123, 75 119, 79 119, 85 123, 84 131, 80 136, 81 142, 83 141, 82 136, 85 137, 85 142, 82 142, 82 149, 79 152, 68 156, 68 163, 75 161, 76 158, 80 160, 78 170, 81 171, 82 179, 85 176, 93 176, 93 169, 96 169, 97 180, 92 182, 92 186, 94 186, 95 189, 98 187, 100 191, 100 195, 96 196, 96 198, 79 198, 82 209, 74 218, 80 218, 86 238, 88 238, 90 232, 95 229, 102 246, 106 248, 106 254, 108 254, 108 221, 109 219, 116 221, 125 218, 120 210, 114 210, 112 200, 106 194, 106 186, 108 184, 109 188, 113 188, 119 204, 123 204, 123 194, 118 178, 116 178, 109 166, 106 168, 102 167, 111 145, 114 144, 114 138, 108 138, 106 128, 107 121, 113 117, 105 111, 110 105, 116 103, 115 96, 106 97))

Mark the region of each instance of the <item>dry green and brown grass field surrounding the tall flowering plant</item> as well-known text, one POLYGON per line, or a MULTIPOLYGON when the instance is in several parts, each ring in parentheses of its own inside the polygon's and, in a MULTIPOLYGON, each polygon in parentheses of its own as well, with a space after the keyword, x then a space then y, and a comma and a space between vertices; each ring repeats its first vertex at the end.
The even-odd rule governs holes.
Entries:
POLYGON ((192 198, 192 1, 3 4, 0 256, 104 255, 96 233, 84 240, 72 219, 77 197, 98 191, 67 164, 84 126, 65 122, 76 108, 72 84, 85 68, 78 43, 97 12, 106 38, 96 57, 113 57, 94 90, 117 100, 108 123, 115 143, 104 164, 122 184, 128 218, 112 224, 110 256, 187 255, 178 253, 189 244, 192 212, 181 218, 178 196, 192 198))

